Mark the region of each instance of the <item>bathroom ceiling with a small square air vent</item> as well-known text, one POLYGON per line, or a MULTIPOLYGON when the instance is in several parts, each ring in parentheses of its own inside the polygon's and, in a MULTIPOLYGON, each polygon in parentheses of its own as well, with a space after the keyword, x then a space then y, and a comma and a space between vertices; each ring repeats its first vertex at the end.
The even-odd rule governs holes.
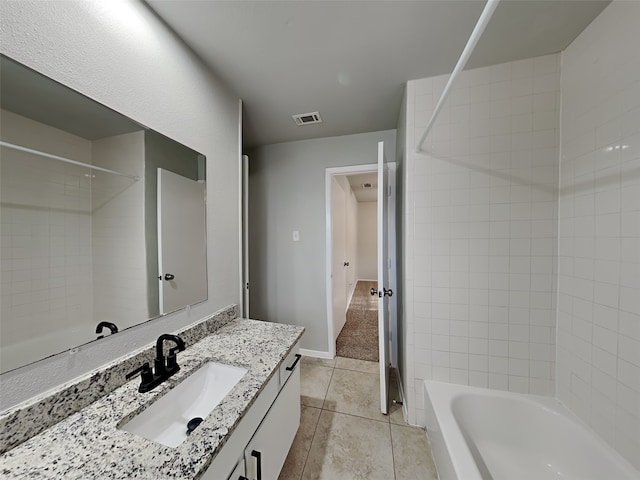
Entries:
MULTIPOLYGON (((485 4, 147 3, 243 99, 245 147, 395 128, 405 82, 450 73, 485 4), (314 111, 322 123, 291 118, 314 111)), ((608 3, 503 0, 467 68, 559 52, 608 3)))

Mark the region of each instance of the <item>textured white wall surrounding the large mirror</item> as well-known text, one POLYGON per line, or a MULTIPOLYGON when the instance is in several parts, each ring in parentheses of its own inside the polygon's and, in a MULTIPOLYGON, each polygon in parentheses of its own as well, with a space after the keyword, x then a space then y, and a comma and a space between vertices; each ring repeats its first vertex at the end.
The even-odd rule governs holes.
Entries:
POLYGON ((209 172, 208 301, 4 375, 3 409, 239 302, 239 113, 237 97, 143 3, 1 2, 0 51, 203 153, 209 172))

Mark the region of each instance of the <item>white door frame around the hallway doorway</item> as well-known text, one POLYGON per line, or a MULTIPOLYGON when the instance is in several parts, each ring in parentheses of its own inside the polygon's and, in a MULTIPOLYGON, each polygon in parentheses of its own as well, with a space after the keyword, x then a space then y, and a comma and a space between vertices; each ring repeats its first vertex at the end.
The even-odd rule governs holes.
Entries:
MULTIPOLYGON (((391 185, 391 195, 389 197, 389 212, 396 212, 396 199, 395 199, 395 179, 396 179, 396 164, 395 162, 389 162, 386 165, 389 167, 389 184, 391 185)), ((331 206, 331 180, 334 176, 342 175, 354 175, 358 173, 374 173, 378 171, 377 163, 368 163, 364 165, 350 165, 345 167, 329 167, 325 169, 325 289, 326 289, 326 310, 327 310, 327 341, 328 352, 327 358, 334 358, 336 356, 336 342, 334 340, 333 329, 333 280, 331 278, 331 265, 333 259, 333 212, 331 206)), ((397 292, 396 285, 396 238, 395 238, 395 214, 391 217, 390 229, 389 229, 389 250, 391 252, 391 278, 390 288, 394 293, 397 292)), ((397 362, 397 309, 396 299, 397 295, 391 297, 392 302, 389 307, 391 311, 391 318, 389 319, 390 329, 390 343, 391 343, 391 363, 393 366, 398 364, 397 362)), ((314 352, 319 353, 319 352, 314 352)))

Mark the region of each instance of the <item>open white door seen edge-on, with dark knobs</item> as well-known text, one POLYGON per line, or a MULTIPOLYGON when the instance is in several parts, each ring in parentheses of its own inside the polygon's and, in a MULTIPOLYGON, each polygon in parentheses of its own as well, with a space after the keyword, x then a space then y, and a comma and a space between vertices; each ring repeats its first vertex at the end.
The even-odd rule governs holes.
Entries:
POLYGON ((388 412, 389 398, 389 170, 384 142, 378 142, 378 342, 380 356, 380 410, 388 412))

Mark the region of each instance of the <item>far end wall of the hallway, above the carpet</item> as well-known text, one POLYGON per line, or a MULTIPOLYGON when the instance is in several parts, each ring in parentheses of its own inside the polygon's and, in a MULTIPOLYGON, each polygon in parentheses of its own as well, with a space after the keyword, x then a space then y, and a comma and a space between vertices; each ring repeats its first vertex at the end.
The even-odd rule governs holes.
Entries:
POLYGON ((358 203, 358 279, 378 279, 378 204, 358 203))

